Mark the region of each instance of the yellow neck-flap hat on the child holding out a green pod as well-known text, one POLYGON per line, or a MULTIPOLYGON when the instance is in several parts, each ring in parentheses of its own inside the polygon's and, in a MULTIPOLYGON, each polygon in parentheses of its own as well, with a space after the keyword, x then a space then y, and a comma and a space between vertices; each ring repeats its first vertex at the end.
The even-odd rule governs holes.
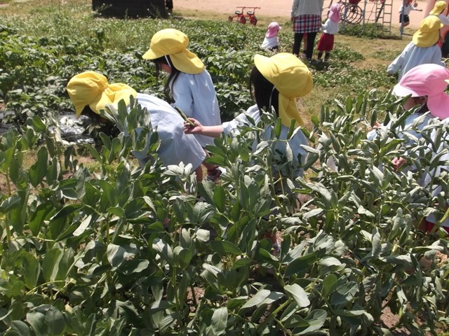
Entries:
POLYGON ((288 52, 279 52, 272 57, 255 55, 254 64, 279 91, 279 117, 283 125, 290 127, 291 120, 296 120, 296 126, 304 126, 296 98, 305 96, 314 87, 307 66, 288 52))

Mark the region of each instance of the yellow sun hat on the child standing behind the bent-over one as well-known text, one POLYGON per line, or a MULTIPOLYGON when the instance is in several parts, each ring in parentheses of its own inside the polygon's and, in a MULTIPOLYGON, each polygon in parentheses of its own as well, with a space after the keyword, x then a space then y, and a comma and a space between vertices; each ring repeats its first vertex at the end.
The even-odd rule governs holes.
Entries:
POLYGON ((177 29, 162 29, 153 35, 143 59, 170 56, 176 69, 185 73, 201 73, 205 67, 201 59, 187 49, 189 38, 177 29))

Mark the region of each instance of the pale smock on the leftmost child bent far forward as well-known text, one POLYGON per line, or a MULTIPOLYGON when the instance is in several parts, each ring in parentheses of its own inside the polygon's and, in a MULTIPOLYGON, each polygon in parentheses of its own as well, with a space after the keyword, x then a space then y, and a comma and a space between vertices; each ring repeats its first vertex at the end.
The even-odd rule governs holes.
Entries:
MULTIPOLYGON (((146 108, 151 118, 152 128, 157 132, 161 144, 157 155, 164 166, 192 164, 196 169, 201 165, 206 153, 192 134, 185 134, 184 120, 170 104, 150 94, 138 93, 136 100, 142 108, 146 108)), ((126 127, 117 125, 117 128, 126 135, 126 127)), ((136 130, 140 132, 141 129, 136 130)), ((151 133, 148 135, 151 137, 151 133)), ((132 151, 139 164, 144 166, 151 156, 148 155, 149 144, 144 151, 132 151)))

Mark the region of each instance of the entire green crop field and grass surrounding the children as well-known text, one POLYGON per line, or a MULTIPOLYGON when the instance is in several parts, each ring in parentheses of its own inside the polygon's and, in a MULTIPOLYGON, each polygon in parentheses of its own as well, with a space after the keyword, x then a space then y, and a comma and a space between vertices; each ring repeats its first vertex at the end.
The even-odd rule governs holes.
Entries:
POLYGON ((389 92, 396 78, 382 59, 406 43, 373 48, 380 61, 367 65, 352 46, 384 40, 342 36, 328 66, 311 65, 314 92, 300 102, 304 179, 273 174, 293 160, 272 151, 276 132, 250 151, 279 123, 269 113, 208 148, 227 170, 219 183, 197 183, 189 166, 162 167, 157 137, 154 162, 140 167, 130 151, 147 144, 134 130, 151 132, 140 106, 116 111, 130 137, 89 129, 98 143, 62 143, 54 130, 58 113, 72 111, 65 87, 76 73, 100 71, 163 97, 164 80, 141 56, 166 27, 189 36, 223 120, 253 104, 253 55, 269 55, 259 48, 263 28, 102 19, 86 2, 2 17, 0 102, 15 127, 0 137, 0 335, 448 332, 448 239, 417 228, 431 213, 448 216, 448 174, 433 181, 436 197, 418 182, 443 163, 449 129, 431 123, 418 144, 401 130, 410 112, 389 92), (392 126, 368 141, 376 121, 392 126), (413 169, 396 172, 398 156, 413 169), (279 253, 266 238, 274 230, 279 253))

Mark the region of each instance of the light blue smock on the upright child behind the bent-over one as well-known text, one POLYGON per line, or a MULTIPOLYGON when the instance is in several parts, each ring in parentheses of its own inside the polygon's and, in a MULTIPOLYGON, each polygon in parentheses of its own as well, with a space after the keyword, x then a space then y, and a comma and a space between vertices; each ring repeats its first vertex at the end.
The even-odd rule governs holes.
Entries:
MULTIPOLYGON (((204 126, 216 126, 222 123, 217 94, 208 71, 192 75, 181 72, 174 85, 171 85, 175 106, 189 118, 195 118, 204 126)), ((201 146, 213 144, 213 138, 195 134, 201 146)))

